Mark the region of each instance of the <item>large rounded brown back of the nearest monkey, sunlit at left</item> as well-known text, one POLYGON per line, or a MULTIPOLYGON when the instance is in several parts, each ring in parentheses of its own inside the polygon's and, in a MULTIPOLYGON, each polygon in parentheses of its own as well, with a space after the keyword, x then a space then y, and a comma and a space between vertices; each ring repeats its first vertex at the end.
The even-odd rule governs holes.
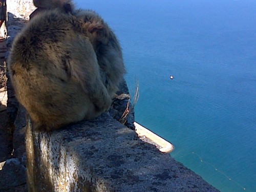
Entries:
POLYGON ((8 68, 17 99, 48 131, 96 117, 111 104, 93 46, 70 14, 33 18, 15 38, 8 68))

